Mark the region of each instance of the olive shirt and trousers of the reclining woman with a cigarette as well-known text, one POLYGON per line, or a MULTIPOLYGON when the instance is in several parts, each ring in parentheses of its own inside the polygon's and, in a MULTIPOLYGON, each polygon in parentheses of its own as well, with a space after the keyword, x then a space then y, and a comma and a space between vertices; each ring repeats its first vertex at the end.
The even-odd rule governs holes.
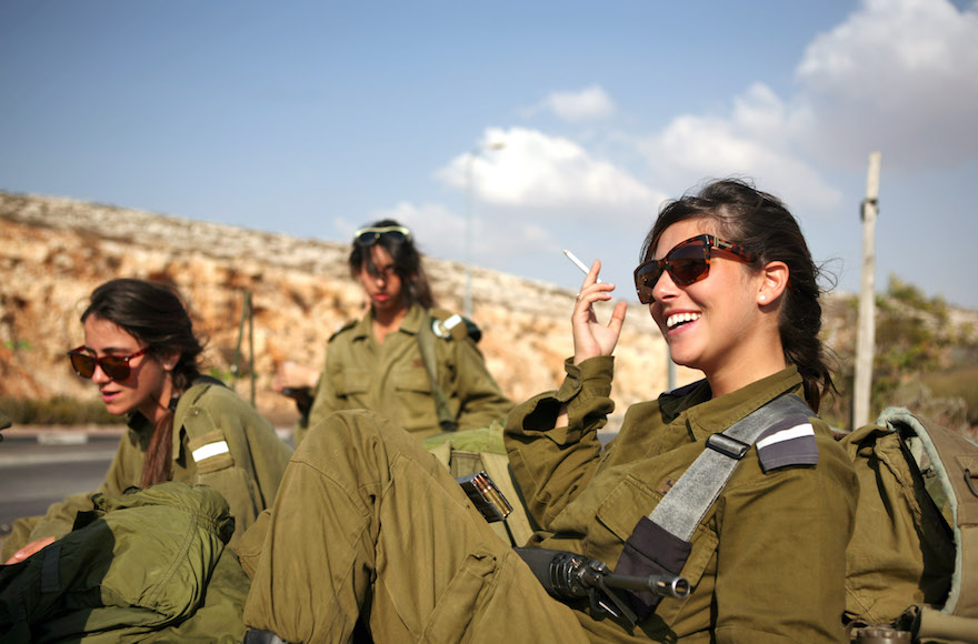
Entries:
MULTIPOLYGON (((678 479, 709 434, 801 380, 791 368, 712 401, 702 384, 636 405, 602 456, 611 364, 568 365, 559 392, 509 415, 507 442, 550 531, 533 543, 613 566, 660 483, 678 479), (553 429, 565 403, 570 425, 553 429)), ((408 434, 369 412, 336 414, 282 481, 246 625, 290 642, 342 642, 362 612, 378 642, 842 642, 856 482, 827 427, 812 424, 818 464, 765 473, 751 449, 691 540, 682 570, 691 595, 662 600, 629 632, 551 598, 408 434)))

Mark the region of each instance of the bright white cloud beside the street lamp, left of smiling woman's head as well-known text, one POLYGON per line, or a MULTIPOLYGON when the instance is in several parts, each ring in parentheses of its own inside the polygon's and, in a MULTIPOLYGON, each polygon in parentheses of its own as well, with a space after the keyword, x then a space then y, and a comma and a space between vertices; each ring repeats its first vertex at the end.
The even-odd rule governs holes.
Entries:
POLYGON ((479 201, 529 209, 647 210, 658 197, 613 163, 596 159, 580 144, 537 130, 489 129, 483 138, 503 142, 497 151, 453 159, 436 175, 465 190, 469 163, 479 201))

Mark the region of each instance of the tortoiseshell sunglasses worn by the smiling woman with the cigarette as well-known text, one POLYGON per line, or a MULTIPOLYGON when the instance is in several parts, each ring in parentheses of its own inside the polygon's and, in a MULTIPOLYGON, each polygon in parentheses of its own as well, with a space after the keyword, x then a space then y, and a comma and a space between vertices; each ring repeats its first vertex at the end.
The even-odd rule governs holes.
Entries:
POLYGON ((661 260, 649 260, 638 265, 635 270, 635 290, 638 292, 638 301, 642 304, 651 304, 656 299, 652 290, 662 276, 662 271, 668 271, 669 276, 677 286, 688 286, 710 274, 710 250, 720 249, 737 255, 738 261, 752 262, 757 254, 745 249, 740 244, 723 241, 711 234, 700 234, 679 242, 672 250, 666 253, 661 260))

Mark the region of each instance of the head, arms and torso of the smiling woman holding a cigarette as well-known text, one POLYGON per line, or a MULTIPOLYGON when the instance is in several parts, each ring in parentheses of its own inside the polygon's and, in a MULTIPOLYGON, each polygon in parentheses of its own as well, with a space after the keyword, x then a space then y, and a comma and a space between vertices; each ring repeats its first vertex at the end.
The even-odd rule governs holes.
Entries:
POLYGON ((797 221, 741 181, 710 183, 662 209, 636 289, 672 361, 705 379, 630 407, 603 455, 595 432, 612 409, 625 309, 598 324, 593 303, 613 290, 597 281, 599 268, 573 310, 562 386, 515 410, 507 426, 529 510, 558 533, 536 543, 567 547, 563 534, 581 535, 570 550, 617 571, 686 577, 687 600, 642 606, 653 610, 643 625, 652 640, 848 641, 840 616, 857 487, 816 415, 834 385, 818 335, 819 271, 797 221), (720 437, 785 394, 798 396, 797 409, 759 424, 757 439, 720 437), (729 479, 710 487, 713 475, 693 467, 701 454, 729 463, 729 479), (696 505, 706 490, 712 495, 696 505), (685 533, 672 529, 682 512, 692 516, 685 533))

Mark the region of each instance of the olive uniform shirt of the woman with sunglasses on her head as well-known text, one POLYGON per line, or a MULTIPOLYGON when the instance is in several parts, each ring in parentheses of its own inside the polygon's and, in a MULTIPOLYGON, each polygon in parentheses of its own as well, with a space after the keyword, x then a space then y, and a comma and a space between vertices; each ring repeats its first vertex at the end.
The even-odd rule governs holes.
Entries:
MULTIPOLYGON (((418 344, 422 325, 431 324, 432 318, 443 322, 452 315, 413 304, 400 329, 378 344, 370 312, 330 338, 308 426, 335 411, 367 409, 419 439, 440 432, 431 379, 418 344)), ((458 316, 456 320, 461 321, 458 316)), ((501 421, 512 404, 486 369, 466 324, 452 325, 446 335, 435 339, 436 370, 458 429, 487 427, 492 421, 501 421)), ((297 445, 306 434, 303 425, 297 429, 297 445)))

